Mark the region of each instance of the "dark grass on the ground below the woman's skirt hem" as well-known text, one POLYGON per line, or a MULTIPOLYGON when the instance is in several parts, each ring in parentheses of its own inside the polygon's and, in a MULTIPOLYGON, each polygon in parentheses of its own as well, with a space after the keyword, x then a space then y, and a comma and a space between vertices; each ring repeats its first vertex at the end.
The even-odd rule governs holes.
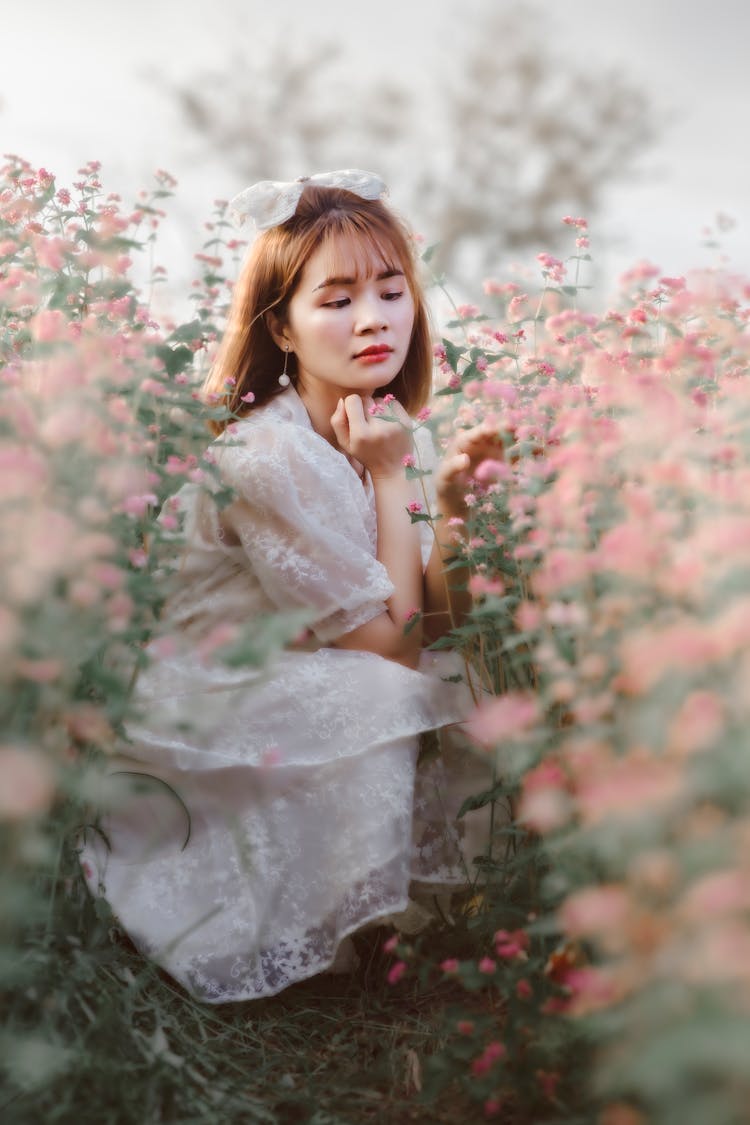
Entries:
POLYGON ((138 955, 72 856, 58 878, 52 925, 26 938, 3 998, 3 1125, 477 1119, 458 1091, 418 1100, 445 990, 386 983, 389 932, 358 936, 352 975, 214 1007, 138 955))

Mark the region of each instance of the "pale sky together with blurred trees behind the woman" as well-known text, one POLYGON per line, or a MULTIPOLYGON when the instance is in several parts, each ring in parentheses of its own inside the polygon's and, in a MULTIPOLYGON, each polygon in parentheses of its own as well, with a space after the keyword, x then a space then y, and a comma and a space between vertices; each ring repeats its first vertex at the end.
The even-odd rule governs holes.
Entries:
POLYGON ((747 0, 3 0, 2 28, 2 152, 60 186, 100 160, 126 204, 179 180, 175 306, 214 199, 346 166, 383 176, 461 299, 570 252, 566 214, 607 295, 641 258, 750 272, 747 0))

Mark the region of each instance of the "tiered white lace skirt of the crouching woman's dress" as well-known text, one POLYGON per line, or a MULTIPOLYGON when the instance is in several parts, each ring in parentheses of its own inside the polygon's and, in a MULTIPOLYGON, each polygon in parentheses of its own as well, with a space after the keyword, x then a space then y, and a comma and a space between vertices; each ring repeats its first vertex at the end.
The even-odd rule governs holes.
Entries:
POLYGON ((454 818, 475 759, 418 753, 467 712, 450 659, 155 660, 83 842, 89 886, 193 996, 226 1002, 328 969, 346 935, 406 909, 413 880, 463 884, 454 818))

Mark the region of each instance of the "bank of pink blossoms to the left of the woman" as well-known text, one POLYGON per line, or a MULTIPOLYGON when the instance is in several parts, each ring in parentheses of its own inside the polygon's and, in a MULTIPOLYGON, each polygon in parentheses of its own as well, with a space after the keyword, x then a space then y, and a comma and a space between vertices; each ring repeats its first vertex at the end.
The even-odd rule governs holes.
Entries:
POLYGON ((179 532, 168 497, 207 472, 193 395, 216 310, 201 296, 192 324, 161 328, 130 279, 173 181, 124 209, 97 162, 79 176, 0 169, 0 821, 19 825, 82 750, 115 747, 155 549, 179 532))

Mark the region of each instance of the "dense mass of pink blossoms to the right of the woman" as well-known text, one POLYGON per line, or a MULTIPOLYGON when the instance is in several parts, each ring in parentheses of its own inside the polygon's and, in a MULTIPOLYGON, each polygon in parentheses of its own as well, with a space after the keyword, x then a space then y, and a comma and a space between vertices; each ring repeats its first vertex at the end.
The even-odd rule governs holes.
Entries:
MULTIPOLYGON (((539 258, 560 282, 569 263, 539 258)), ((616 1007, 602 1065, 616 1052, 625 1073, 707 996, 750 1028, 750 284, 643 262, 604 312, 501 296, 499 321, 440 357, 452 424, 515 439, 466 497, 469 727, 517 785, 516 824, 566 856, 554 921, 589 952, 550 1010, 616 1007)), ((505 935, 477 969, 522 953, 505 935)))

